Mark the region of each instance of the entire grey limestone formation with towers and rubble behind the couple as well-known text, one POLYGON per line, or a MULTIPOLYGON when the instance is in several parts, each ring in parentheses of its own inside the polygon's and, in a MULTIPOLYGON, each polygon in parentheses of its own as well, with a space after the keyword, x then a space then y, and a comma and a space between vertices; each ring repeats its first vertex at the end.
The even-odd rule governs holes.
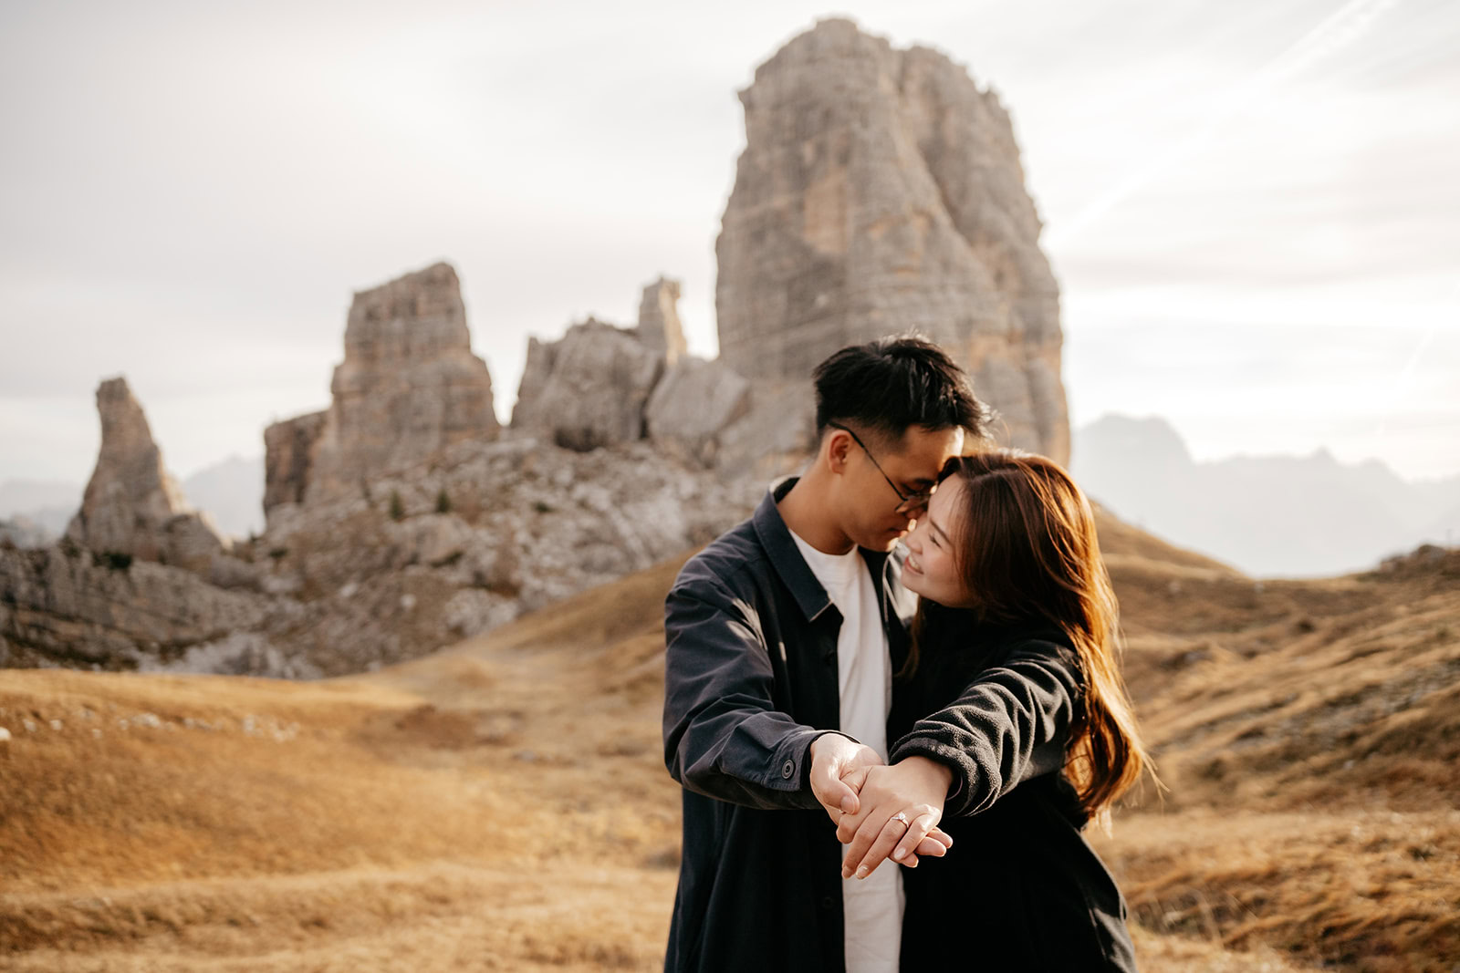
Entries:
POLYGON ((686 353, 660 277, 635 327, 531 341, 504 432, 456 270, 362 290, 331 404, 266 430, 269 524, 231 553, 107 382, 69 538, 0 543, 0 667, 308 678, 486 632, 730 527, 813 448, 810 369, 899 331, 962 360, 1015 445, 1066 461, 1058 292, 997 98, 828 20, 742 101, 720 360, 686 353))

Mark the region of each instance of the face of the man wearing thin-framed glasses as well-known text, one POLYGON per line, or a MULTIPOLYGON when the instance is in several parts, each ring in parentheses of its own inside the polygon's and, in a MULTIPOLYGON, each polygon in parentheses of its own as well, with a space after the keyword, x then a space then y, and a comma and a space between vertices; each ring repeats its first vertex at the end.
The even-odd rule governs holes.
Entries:
POLYGON ((858 546, 885 551, 892 550, 924 509, 899 512, 905 506, 902 497, 934 487, 943 464, 962 452, 964 430, 912 426, 899 443, 869 442, 870 454, 856 442, 847 446, 840 490, 842 530, 858 546))

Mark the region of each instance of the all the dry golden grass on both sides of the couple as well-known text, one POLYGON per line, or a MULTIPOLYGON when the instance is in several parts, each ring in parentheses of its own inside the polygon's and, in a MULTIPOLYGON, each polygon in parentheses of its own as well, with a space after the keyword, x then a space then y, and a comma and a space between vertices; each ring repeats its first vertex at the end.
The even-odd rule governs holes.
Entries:
MULTIPOLYGON (((1098 842, 1143 969, 1450 970, 1453 559, 1254 586, 1102 530, 1172 788, 1098 842)), ((676 569, 349 678, 0 672, 0 970, 658 969, 676 569)))

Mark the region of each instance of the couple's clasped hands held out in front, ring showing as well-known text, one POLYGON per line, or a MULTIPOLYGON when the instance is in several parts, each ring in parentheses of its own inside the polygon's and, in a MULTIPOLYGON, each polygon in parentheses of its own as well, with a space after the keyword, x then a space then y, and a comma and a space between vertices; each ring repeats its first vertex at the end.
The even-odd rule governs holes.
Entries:
POLYGON ((953 839, 937 827, 952 780, 948 767, 923 757, 889 767, 876 750, 841 734, 818 737, 810 756, 812 794, 837 824, 837 840, 848 846, 842 878, 866 878, 889 855, 917 868, 920 855, 942 858, 952 848, 953 839))

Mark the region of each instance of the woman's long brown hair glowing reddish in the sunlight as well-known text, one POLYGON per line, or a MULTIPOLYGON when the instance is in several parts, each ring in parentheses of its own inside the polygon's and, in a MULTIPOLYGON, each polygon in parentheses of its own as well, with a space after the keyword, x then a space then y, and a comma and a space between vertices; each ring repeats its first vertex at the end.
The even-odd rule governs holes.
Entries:
MULTIPOLYGON (((1108 826, 1110 807, 1142 772, 1152 770, 1120 675, 1118 605, 1083 492, 1057 462, 1013 449, 955 457, 943 468, 964 487, 961 511, 943 525, 974 598, 977 621, 1042 623, 1064 632, 1085 680, 1066 744, 1064 772, 1086 815, 1108 826)), ((914 623, 912 655, 958 639, 959 611, 924 601, 914 623), (936 619, 936 620, 934 620, 936 619)))

